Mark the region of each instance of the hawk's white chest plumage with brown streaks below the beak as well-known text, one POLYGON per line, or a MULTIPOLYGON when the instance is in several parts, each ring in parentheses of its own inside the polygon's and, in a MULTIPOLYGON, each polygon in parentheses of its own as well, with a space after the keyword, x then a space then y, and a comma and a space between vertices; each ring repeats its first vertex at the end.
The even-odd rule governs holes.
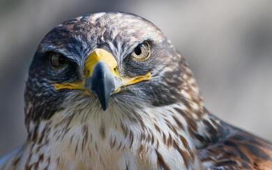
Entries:
POLYGON ((195 169, 194 144, 174 107, 183 109, 64 109, 40 123, 38 143, 24 148, 20 162, 48 169, 195 169))

